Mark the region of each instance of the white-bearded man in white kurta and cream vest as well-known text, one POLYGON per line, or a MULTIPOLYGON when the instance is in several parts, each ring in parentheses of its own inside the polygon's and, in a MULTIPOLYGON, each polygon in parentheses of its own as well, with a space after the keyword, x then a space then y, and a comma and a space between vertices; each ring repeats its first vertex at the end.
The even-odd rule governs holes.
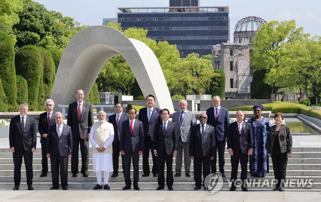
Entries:
POLYGON ((109 172, 113 171, 112 142, 114 140, 113 124, 106 121, 106 112, 98 113, 99 122, 92 125, 90 130, 90 143, 92 145, 92 165, 96 173, 97 185, 93 189, 102 189, 101 174, 104 171, 104 189, 108 186, 109 172))

